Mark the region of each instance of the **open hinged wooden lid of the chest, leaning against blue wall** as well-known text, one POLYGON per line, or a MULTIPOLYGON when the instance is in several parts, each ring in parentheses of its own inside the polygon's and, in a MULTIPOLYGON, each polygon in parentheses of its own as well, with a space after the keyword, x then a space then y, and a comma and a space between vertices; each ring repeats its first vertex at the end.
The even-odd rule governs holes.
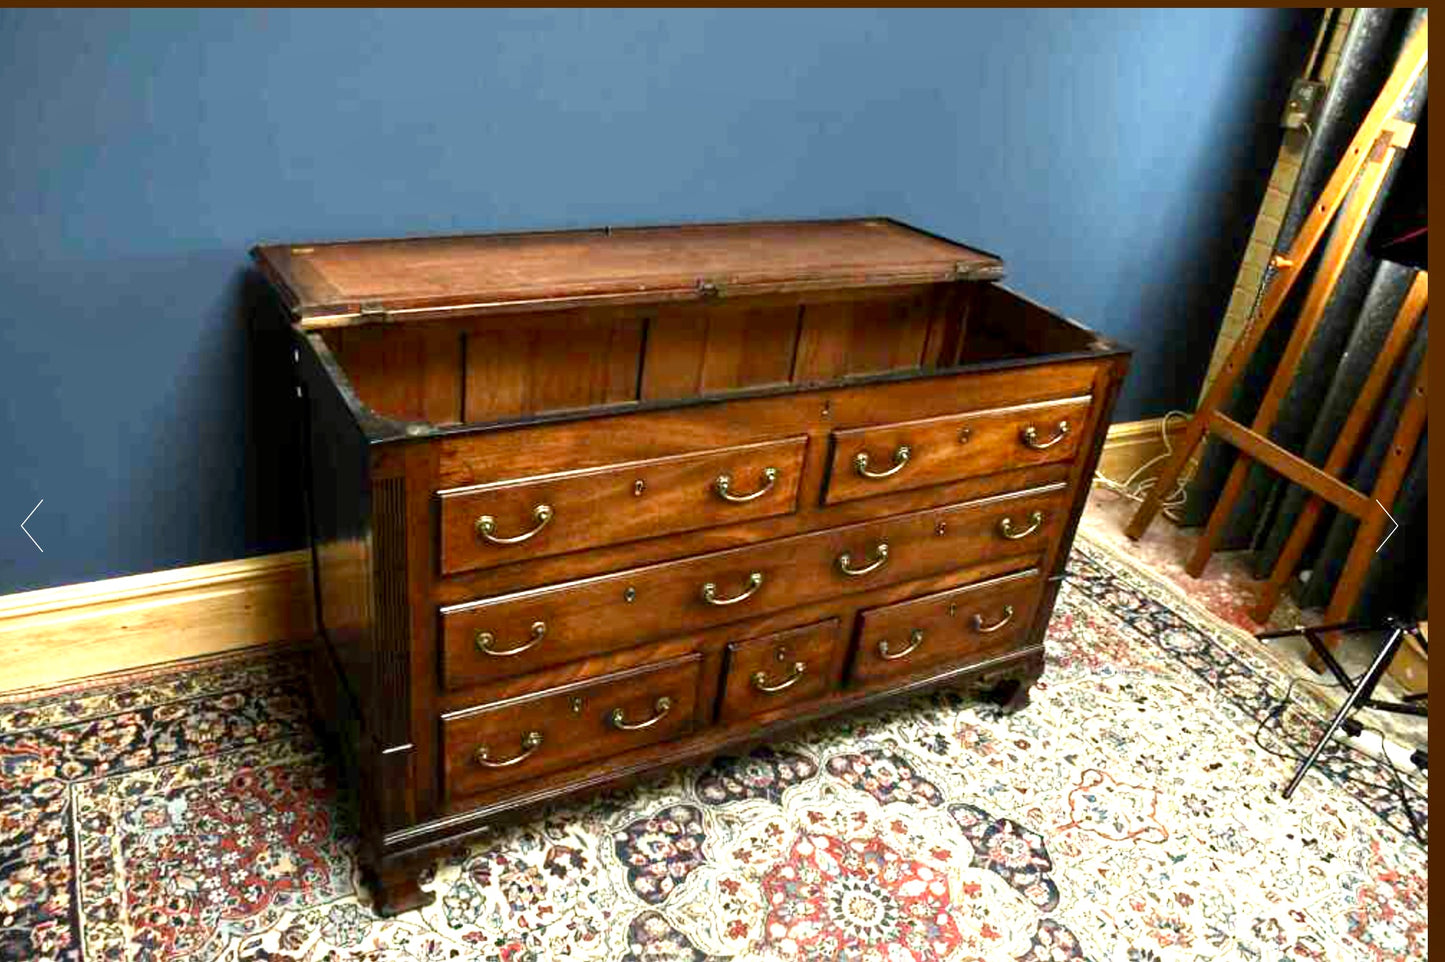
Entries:
POLYGON ((262 244, 251 256, 302 328, 1003 277, 993 254, 889 218, 262 244))

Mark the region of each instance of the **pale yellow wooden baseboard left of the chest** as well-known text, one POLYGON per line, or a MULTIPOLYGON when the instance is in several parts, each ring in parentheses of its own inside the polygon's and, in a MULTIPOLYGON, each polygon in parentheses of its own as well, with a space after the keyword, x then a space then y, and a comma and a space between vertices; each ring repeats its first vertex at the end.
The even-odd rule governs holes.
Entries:
POLYGON ((0 595, 0 690, 314 634, 308 550, 0 595))

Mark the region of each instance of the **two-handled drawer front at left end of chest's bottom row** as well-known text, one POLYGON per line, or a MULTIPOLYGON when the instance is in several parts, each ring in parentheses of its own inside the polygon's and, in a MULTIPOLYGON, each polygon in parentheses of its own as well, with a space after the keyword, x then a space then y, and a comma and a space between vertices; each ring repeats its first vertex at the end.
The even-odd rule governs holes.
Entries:
POLYGON ((689 654, 442 716, 447 797, 685 735, 701 667, 689 654))

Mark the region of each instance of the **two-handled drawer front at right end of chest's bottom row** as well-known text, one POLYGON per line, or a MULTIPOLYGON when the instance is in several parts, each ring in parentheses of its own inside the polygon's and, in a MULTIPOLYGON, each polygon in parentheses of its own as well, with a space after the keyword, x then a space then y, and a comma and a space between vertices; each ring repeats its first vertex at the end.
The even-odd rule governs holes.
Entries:
POLYGON ((1038 569, 941 591, 858 615, 850 685, 962 666, 1017 644, 1033 621, 1038 569))

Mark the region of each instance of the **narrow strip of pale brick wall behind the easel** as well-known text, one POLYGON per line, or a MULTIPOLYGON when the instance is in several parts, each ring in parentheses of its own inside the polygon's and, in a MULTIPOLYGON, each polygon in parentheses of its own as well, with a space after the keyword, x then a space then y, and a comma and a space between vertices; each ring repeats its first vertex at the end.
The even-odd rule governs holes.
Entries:
MULTIPOLYGON (((1329 49, 1324 53, 1319 72, 1321 79, 1327 84, 1335 74, 1335 65, 1340 62, 1340 48, 1344 45, 1351 19, 1354 19, 1354 7, 1345 7, 1340 12, 1340 25, 1335 27, 1334 38, 1331 38, 1329 49)), ((1324 29, 1324 23, 1321 23, 1321 29, 1324 29)), ((1250 234, 1244 260, 1240 263, 1240 273, 1234 277, 1234 292, 1230 295, 1230 305, 1224 312, 1220 337, 1214 342, 1209 371, 1205 374, 1204 387, 1199 390, 1201 399, 1209 390, 1209 386, 1214 384, 1214 377, 1220 365, 1224 364, 1224 358, 1228 357, 1240 335, 1244 334, 1246 325, 1250 322, 1250 311, 1254 308, 1254 300, 1259 296, 1260 282, 1264 279, 1264 267, 1274 251, 1280 220, 1285 217, 1285 205, 1289 204, 1289 192, 1295 188, 1296 178, 1299 178, 1299 162, 1308 144, 1309 139, 1302 130, 1285 134, 1285 143, 1280 146, 1279 157, 1274 160, 1269 188, 1264 191, 1264 201, 1260 204, 1260 212, 1254 220, 1254 230, 1250 234)))

